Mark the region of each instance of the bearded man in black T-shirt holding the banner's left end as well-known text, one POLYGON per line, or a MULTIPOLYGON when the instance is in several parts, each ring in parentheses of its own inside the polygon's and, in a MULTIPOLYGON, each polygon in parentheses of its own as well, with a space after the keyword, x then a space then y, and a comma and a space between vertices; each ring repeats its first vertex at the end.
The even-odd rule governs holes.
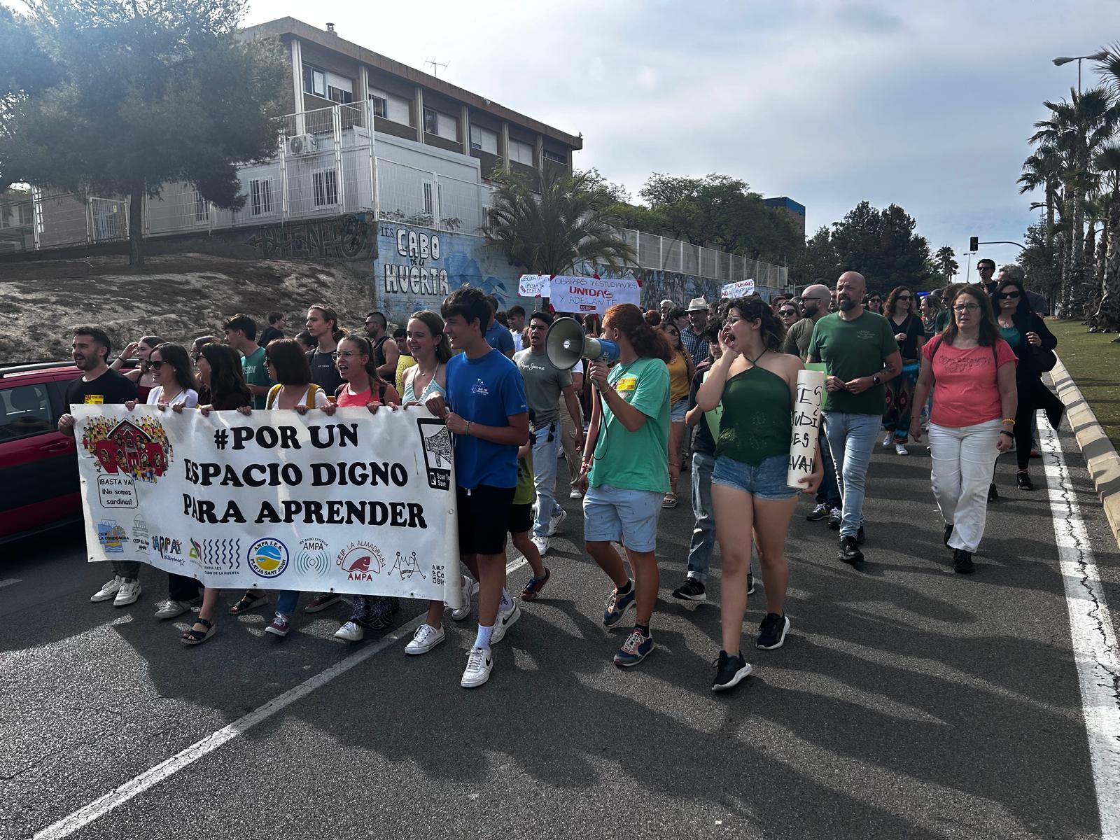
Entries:
MULTIPOLYGON (((111 344, 97 327, 75 327, 71 345, 74 364, 83 371, 82 379, 66 388, 69 405, 120 405, 137 399, 137 386, 128 377, 109 367, 111 344)), ((74 416, 58 418, 58 431, 74 437, 74 416)), ((136 560, 113 560, 113 579, 91 596, 97 603, 113 599, 114 607, 124 607, 140 597, 140 563, 136 560)))

